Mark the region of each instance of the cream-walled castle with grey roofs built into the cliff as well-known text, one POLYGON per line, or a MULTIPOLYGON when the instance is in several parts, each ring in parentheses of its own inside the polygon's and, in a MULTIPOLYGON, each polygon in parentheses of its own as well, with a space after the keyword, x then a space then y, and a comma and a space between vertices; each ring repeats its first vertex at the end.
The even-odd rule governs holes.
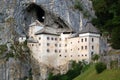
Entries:
POLYGON ((62 32, 54 34, 47 31, 42 23, 35 21, 29 26, 28 47, 32 56, 40 63, 58 67, 70 60, 91 61, 93 54, 100 53, 100 34, 91 24, 78 33, 62 32))

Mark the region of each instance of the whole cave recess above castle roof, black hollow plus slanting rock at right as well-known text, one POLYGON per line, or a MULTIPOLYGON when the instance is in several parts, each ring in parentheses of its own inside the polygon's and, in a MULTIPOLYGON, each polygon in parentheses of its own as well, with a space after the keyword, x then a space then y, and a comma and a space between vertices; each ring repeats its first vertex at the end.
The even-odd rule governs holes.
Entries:
MULTIPOLYGON (((56 29, 56 32, 64 32, 64 31, 73 31, 71 25, 61 16, 54 14, 52 11, 47 10, 42 5, 38 5, 36 3, 30 3, 26 8, 27 13, 34 12, 36 15, 30 16, 34 17, 33 21, 36 19, 44 25, 44 27, 50 27, 56 29), (44 18, 43 18, 44 17, 44 18)), ((33 22, 32 21, 32 22, 33 22)), ((31 22, 31 23, 32 23, 31 22)))

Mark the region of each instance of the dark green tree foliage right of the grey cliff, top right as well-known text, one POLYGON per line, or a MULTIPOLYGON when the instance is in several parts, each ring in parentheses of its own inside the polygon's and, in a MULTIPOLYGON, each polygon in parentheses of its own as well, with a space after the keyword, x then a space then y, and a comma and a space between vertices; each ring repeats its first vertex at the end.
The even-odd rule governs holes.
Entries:
MULTIPOLYGON (((101 32, 109 32, 109 35, 111 35, 113 29, 120 27, 120 0, 92 0, 92 2, 97 16, 96 19, 92 20, 92 23, 96 25, 101 32)), ((118 31, 120 32, 120 29, 118 31)), ((118 38, 119 37, 116 36, 117 40, 118 38)), ((119 46, 119 44, 114 44, 113 39, 111 42, 114 48, 120 49, 120 47, 115 47, 115 45, 119 46)))

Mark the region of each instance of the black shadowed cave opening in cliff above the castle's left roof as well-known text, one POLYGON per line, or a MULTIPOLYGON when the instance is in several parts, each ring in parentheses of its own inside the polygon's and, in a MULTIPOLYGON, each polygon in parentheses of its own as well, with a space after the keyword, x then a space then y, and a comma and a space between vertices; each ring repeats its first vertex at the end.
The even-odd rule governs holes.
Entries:
POLYGON ((37 4, 32 3, 27 8, 28 12, 35 11, 36 13, 36 19, 40 22, 44 22, 45 19, 45 11, 37 4))

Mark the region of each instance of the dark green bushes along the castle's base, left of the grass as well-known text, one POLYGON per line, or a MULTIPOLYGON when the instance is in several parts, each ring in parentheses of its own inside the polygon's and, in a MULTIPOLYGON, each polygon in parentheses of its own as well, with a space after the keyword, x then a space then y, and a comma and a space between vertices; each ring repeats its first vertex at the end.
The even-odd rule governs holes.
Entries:
POLYGON ((71 69, 63 75, 53 75, 52 73, 49 74, 48 80, 73 80, 76 76, 80 75, 81 72, 88 69, 87 64, 84 62, 78 62, 72 61, 71 69), (84 70, 83 70, 84 69, 84 70))

